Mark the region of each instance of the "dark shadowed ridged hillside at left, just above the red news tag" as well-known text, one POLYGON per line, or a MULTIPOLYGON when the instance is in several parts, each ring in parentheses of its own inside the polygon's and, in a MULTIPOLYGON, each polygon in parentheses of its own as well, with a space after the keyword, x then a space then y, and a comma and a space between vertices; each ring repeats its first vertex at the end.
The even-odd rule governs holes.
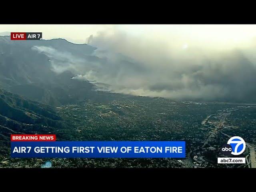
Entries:
POLYGON ((72 125, 64 122, 54 108, 0 89, 0 154, 8 152, 10 134, 58 134, 63 129, 72 129, 72 125))

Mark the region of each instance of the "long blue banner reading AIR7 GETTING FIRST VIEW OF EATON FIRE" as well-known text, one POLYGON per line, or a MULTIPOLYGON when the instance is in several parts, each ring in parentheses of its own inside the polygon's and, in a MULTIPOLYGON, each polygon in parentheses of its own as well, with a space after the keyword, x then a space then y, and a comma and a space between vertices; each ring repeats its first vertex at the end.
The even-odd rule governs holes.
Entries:
POLYGON ((12 158, 185 158, 185 141, 11 142, 12 158))

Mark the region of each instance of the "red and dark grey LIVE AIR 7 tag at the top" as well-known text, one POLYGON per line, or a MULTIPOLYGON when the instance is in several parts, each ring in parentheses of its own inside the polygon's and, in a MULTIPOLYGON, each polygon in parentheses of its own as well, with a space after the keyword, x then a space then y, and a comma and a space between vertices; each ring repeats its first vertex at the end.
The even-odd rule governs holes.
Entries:
POLYGON ((11 32, 11 40, 42 40, 42 32, 11 32))

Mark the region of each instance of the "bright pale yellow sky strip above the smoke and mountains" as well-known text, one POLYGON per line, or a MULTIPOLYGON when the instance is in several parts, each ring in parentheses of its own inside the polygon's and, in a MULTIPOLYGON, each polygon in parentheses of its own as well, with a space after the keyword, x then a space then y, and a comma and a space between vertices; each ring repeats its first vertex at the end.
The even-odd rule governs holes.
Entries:
POLYGON ((44 39, 65 38, 74 43, 85 43, 91 34, 116 30, 183 48, 191 44, 220 49, 248 46, 256 37, 256 25, 0 25, 0 32, 43 32, 44 39))

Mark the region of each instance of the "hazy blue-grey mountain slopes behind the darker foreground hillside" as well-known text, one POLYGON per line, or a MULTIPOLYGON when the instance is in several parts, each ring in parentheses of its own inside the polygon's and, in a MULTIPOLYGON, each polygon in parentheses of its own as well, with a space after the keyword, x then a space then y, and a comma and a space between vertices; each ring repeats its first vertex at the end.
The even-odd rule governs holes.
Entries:
POLYGON ((39 50, 41 47, 85 60, 99 59, 90 56, 95 48, 86 44, 72 44, 64 39, 10 41, 10 36, 0 36, 0 88, 51 106, 94 98, 95 85, 70 79, 75 74, 69 70, 54 71, 53 63, 61 66, 70 61, 39 50))

